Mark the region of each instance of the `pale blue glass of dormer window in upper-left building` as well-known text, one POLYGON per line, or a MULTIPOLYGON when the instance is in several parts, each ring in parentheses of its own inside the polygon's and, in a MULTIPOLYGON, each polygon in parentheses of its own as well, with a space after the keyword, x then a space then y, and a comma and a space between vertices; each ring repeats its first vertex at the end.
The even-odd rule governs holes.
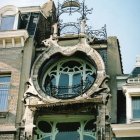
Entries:
POLYGON ((15 16, 2 17, 0 30, 12 30, 14 26, 15 16))

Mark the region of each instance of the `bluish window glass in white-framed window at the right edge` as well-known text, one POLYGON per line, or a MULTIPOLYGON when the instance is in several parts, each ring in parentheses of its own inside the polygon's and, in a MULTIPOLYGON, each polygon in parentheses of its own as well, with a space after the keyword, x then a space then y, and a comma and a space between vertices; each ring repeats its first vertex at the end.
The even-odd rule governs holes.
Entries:
POLYGON ((140 97, 132 97, 133 118, 140 118, 140 97))

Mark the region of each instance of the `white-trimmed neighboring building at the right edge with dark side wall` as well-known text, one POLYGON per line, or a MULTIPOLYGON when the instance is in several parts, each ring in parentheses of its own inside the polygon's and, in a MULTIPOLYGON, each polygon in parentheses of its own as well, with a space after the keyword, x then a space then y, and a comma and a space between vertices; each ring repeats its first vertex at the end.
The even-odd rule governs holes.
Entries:
POLYGON ((140 57, 130 75, 117 76, 118 124, 112 129, 119 140, 140 139, 140 57))

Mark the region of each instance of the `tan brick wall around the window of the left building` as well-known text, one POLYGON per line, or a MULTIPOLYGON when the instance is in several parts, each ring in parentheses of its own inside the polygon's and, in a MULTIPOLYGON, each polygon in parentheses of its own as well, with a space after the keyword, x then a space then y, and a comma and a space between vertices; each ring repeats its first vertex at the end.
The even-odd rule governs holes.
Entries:
POLYGON ((17 99, 22 63, 22 48, 0 48, 0 74, 11 73, 10 93, 8 98, 8 113, 0 117, 0 127, 15 125, 17 99))

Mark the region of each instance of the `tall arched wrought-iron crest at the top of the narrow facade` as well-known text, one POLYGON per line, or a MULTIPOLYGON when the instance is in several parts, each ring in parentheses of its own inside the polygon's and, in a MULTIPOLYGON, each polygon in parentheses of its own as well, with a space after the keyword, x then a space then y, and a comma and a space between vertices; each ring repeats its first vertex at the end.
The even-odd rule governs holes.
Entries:
MULTIPOLYGON (((79 20, 87 20, 87 15, 91 14, 92 9, 88 9, 85 5, 85 2, 82 3, 79 2, 79 0, 65 0, 62 4, 58 2, 58 8, 57 8, 57 21, 59 23, 59 31, 60 35, 64 34, 79 34, 80 32, 80 24, 77 22, 69 22, 62 24, 62 21, 60 20, 60 16, 63 13, 69 13, 69 15, 73 13, 80 13, 81 17, 79 20)), ((78 21, 79 22, 79 21, 78 21)))

